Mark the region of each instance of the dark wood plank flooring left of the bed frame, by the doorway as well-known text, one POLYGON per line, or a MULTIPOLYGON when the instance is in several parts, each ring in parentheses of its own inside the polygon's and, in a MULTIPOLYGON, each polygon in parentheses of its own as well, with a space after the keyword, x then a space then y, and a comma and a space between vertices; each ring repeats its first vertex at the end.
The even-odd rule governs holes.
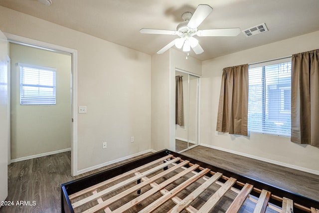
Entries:
POLYGON ((6 201, 13 201, 14 206, 2 206, 0 213, 60 213, 61 184, 126 161, 75 177, 70 175, 70 152, 12 163, 8 165, 8 197, 6 201), (16 202, 20 201, 24 204, 16 205, 16 202), (35 205, 32 202, 35 202, 35 205))

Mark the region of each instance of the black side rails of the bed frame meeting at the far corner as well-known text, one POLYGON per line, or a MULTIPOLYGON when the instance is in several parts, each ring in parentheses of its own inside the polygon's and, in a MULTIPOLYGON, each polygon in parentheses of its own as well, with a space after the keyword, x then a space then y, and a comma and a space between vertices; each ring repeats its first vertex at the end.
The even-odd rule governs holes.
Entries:
MULTIPOLYGON (((285 204, 287 207, 289 207, 290 205, 293 205, 294 207, 292 208, 295 210, 294 211, 295 213, 299 213, 299 212, 300 213, 305 213, 305 212, 319 213, 319 201, 315 201, 315 200, 297 195, 295 193, 291 193, 283 189, 279 189, 277 187, 259 182, 258 180, 254 180, 249 177, 245 177, 245 176, 206 164, 196 159, 189 158, 182 154, 178 154, 168 150, 162 150, 160 152, 156 152, 146 157, 142 157, 140 159, 133 160, 128 163, 124 163, 122 165, 112 167, 105 171, 101 171, 101 172, 98 172, 98 173, 95 173, 74 181, 70 181, 65 184, 62 184, 61 185, 62 213, 74 213, 69 196, 74 195, 92 186, 95 186, 106 180, 112 179, 114 177, 120 176, 129 171, 132 171, 138 167, 142 167, 145 164, 161 159, 167 155, 172 155, 170 157, 171 159, 178 158, 177 160, 179 160, 179 162, 183 162, 183 161, 189 162, 187 163, 189 167, 193 165, 199 165, 199 167, 196 170, 198 172, 207 170, 209 171, 207 173, 209 174, 209 176, 213 176, 217 173, 220 174, 220 178, 218 177, 218 181, 223 184, 225 184, 229 179, 235 180, 234 185, 232 185, 232 188, 234 190, 235 189, 239 191, 247 190, 247 192, 249 191, 248 194, 256 196, 256 197, 265 196, 264 198, 265 200, 268 199, 270 203, 279 207, 281 207, 283 204, 285 204), (292 201, 294 203, 292 203, 292 201)), ((163 167, 163 169, 166 170, 167 167, 163 167)), ((143 181, 146 181, 146 180, 147 178, 144 179, 143 181)), ((138 183, 141 183, 141 180, 138 183)))

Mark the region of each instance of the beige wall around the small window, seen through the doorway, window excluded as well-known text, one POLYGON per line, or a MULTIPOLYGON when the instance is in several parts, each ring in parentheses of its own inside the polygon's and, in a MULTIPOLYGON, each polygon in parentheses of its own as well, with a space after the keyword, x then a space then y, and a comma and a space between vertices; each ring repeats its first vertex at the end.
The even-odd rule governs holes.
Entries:
POLYGON ((71 56, 10 43, 11 159, 71 147, 71 56), (20 68, 56 68, 56 105, 20 105, 20 68))

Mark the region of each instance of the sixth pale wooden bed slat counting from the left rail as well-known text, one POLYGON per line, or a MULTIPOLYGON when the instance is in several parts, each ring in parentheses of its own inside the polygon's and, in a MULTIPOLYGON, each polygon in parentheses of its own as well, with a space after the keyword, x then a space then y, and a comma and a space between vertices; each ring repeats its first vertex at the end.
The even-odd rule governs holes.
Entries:
POLYGON ((215 183, 223 174, 217 172, 215 175, 213 175, 211 178, 209 178, 205 183, 200 185, 196 190, 194 190, 192 193, 190 193, 186 198, 184 198, 182 201, 179 202, 175 207, 173 207, 170 211, 167 213, 179 213, 186 207, 190 205, 190 203, 197 198, 201 193, 203 193, 210 185, 215 183))

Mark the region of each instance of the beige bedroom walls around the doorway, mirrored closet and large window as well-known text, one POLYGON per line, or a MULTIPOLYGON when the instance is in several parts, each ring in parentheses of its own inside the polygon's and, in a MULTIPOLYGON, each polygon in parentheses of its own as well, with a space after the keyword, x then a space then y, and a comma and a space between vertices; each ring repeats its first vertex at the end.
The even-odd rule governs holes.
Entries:
POLYGON ((185 54, 170 49, 152 56, 151 65, 151 56, 145 53, 2 6, 0 30, 78 51, 78 105, 88 110, 78 115, 78 170, 151 147, 174 150, 174 76, 175 68, 179 68, 199 75, 202 72, 202 144, 319 171, 318 148, 294 144, 284 137, 215 136, 214 131, 222 68, 319 48, 319 32, 202 63, 191 57, 185 60, 185 54), (135 136, 135 143, 130 143, 131 136, 135 136), (108 142, 105 150, 103 141, 108 142))

